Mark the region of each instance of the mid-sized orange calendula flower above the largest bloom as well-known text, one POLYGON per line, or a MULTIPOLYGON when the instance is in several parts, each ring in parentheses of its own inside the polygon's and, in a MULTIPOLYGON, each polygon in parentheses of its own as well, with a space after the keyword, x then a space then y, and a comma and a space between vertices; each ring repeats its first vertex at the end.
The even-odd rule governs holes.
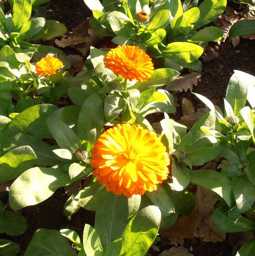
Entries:
POLYGON ((154 66, 151 58, 139 47, 118 46, 104 58, 104 66, 129 81, 145 81, 152 76, 154 66))

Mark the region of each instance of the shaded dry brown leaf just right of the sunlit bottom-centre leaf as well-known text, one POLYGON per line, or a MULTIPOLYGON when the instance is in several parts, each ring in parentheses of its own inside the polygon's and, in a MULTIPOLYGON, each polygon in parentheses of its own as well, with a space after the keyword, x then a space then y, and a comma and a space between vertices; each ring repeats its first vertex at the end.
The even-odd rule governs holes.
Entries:
POLYGON ((184 243, 184 238, 192 238, 192 233, 199 227, 199 223, 200 215, 191 213, 186 216, 178 217, 173 226, 167 229, 162 229, 159 233, 165 238, 173 240, 178 244, 182 244, 184 243))

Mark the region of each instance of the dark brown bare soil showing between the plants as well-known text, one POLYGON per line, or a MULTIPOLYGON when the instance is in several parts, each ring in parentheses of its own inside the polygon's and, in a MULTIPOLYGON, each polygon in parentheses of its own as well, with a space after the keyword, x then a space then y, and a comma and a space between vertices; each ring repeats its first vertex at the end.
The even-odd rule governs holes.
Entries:
MULTIPOLYGON (((6 8, 8 3, 2 1, 6 8)), ((91 15, 91 12, 86 7, 83 0, 51 0, 45 4, 46 19, 55 19, 67 26, 69 32, 77 27, 79 23, 91 15)), ((212 59, 208 63, 202 64, 202 80, 198 86, 193 87, 193 92, 200 93, 209 98, 214 104, 223 108, 223 98, 226 93, 226 88, 233 70, 242 70, 249 74, 255 75, 255 43, 252 40, 242 39, 237 47, 226 40, 221 45, 212 45, 218 53, 219 57, 212 59)), ((63 51, 65 49, 62 48, 63 51)), ((201 59, 202 60, 202 59, 201 59)), ((174 116, 178 120, 182 116, 181 99, 186 97, 190 99, 195 106, 195 109, 200 108, 203 104, 189 91, 177 93, 177 113, 174 116)), ((8 236, 0 234, 1 238, 7 238, 20 244, 21 252, 18 256, 23 256, 23 253, 29 244, 33 233, 39 228, 56 229, 70 228, 78 232, 81 236, 85 223, 94 224, 94 212, 85 209, 79 209, 72 216, 72 220, 64 216, 63 207, 68 196, 63 188, 58 189, 55 194, 44 202, 22 209, 22 215, 27 219, 28 228, 23 235, 8 236)), ((155 244, 160 252, 172 245, 157 242, 155 244)), ((187 241, 185 246, 192 248, 194 256, 230 256, 232 246, 228 243, 191 243, 187 241)), ((160 252, 150 249, 151 256, 157 256, 160 252)))

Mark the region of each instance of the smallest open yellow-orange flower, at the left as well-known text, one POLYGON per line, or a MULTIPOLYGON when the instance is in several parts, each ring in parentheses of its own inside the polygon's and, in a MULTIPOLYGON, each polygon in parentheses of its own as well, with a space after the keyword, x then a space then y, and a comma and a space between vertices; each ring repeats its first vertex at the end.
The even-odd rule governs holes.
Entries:
POLYGON ((44 57, 36 63, 35 71, 37 75, 45 76, 55 74, 61 69, 63 62, 59 58, 52 56, 44 57))

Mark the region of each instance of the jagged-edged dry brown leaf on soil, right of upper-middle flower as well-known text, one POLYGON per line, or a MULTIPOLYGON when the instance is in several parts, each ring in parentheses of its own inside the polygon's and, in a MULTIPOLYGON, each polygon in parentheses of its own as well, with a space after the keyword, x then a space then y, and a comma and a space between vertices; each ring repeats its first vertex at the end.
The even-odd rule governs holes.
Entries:
POLYGON ((182 76, 177 77, 176 80, 171 81, 170 83, 166 84, 165 90, 167 91, 180 91, 183 90, 185 92, 190 90, 192 92, 193 85, 197 86, 198 82, 201 81, 201 73, 200 72, 192 72, 190 74, 184 74, 182 76))

